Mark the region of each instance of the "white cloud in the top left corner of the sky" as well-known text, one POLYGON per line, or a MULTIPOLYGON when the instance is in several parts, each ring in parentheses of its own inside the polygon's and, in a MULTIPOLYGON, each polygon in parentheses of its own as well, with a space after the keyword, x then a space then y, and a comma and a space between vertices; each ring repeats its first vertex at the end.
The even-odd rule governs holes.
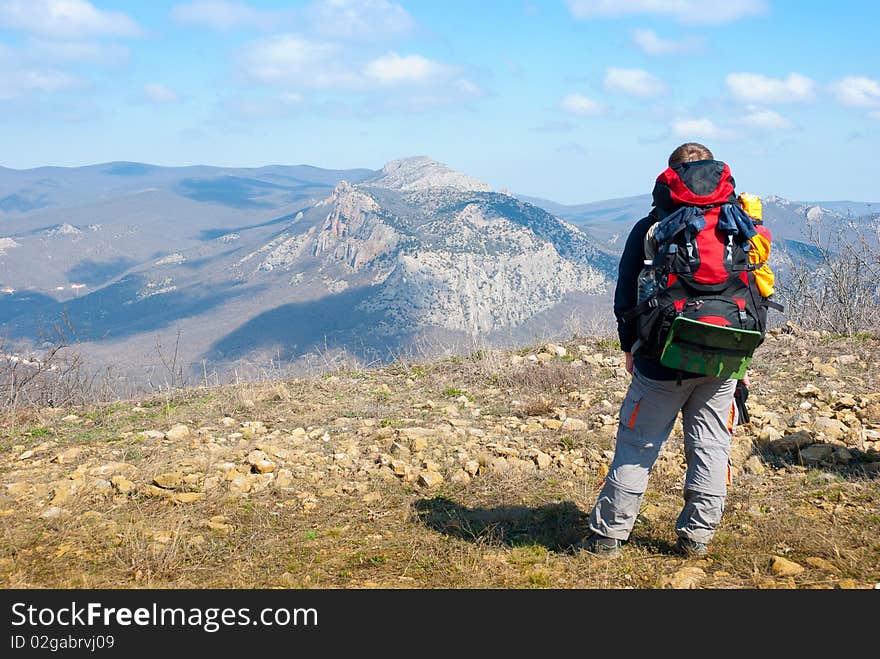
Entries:
POLYGON ((0 25, 61 39, 141 34, 126 14, 102 11, 87 0, 5 0, 0 3, 0 25))

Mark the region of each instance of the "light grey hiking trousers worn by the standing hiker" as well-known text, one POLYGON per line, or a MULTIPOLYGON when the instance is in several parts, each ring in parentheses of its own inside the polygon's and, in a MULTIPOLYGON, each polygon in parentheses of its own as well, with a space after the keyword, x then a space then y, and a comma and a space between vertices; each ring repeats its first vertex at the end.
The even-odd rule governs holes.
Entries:
POLYGON ((680 410, 687 474, 675 532, 708 544, 727 496, 735 388, 736 380, 698 377, 678 384, 651 380, 633 370, 620 408, 614 459, 590 513, 590 529, 609 538, 629 538, 648 476, 680 410))

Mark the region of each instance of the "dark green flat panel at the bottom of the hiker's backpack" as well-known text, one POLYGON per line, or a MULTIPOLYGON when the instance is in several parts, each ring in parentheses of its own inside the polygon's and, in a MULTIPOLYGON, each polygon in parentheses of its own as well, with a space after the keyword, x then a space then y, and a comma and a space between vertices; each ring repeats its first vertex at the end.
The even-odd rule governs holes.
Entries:
POLYGON ((761 343, 761 333, 701 323, 678 316, 660 353, 660 363, 688 373, 741 379, 761 343))

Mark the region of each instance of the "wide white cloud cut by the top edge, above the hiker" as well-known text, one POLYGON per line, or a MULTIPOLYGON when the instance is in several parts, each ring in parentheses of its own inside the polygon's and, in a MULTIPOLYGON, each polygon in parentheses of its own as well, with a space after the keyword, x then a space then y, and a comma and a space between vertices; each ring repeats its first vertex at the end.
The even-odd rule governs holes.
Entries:
POLYGON ((681 23, 718 25, 764 13, 765 0, 565 0, 578 19, 654 14, 681 23))

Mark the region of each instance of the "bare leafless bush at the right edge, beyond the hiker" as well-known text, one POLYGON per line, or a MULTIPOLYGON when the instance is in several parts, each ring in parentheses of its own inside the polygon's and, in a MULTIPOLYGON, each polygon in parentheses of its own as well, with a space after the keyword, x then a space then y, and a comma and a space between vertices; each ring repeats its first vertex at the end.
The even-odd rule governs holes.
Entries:
POLYGON ((880 215, 823 226, 808 221, 812 255, 792 259, 779 285, 789 320, 855 336, 880 327, 880 215))

